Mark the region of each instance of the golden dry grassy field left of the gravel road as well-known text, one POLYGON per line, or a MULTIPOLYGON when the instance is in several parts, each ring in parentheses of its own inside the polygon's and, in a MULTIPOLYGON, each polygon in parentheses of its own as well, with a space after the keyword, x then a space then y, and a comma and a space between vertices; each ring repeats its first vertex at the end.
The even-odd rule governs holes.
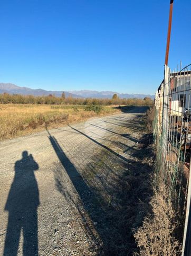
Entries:
POLYGON ((117 111, 112 107, 97 109, 84 105, 0 104, 0 140, 41 131, 45 125, 61 127, 117 111))

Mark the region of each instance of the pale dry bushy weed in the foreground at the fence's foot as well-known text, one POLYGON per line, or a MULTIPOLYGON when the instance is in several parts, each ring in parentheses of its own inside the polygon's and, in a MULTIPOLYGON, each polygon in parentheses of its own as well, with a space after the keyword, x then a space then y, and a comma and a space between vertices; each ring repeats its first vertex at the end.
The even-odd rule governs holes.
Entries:
POLYGON ((175 211, 162 182, 159 189, 155 190, 150 205, 152 214, 144 219, 143 225, 134 235, 139 248, 139 253, 135 255, 180 255, 181 246, 173 236, 175 211))

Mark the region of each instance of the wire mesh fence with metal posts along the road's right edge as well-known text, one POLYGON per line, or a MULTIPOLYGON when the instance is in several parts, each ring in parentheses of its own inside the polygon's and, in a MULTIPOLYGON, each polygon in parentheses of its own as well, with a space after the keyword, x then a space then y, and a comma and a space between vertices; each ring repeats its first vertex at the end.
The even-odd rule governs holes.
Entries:
POLYGON ((165 66, 165 78, 155 95, 154 138, 157 169, 169 187, 177 213, 186 216, 191 148, 191 64, 171 72, 165 66))

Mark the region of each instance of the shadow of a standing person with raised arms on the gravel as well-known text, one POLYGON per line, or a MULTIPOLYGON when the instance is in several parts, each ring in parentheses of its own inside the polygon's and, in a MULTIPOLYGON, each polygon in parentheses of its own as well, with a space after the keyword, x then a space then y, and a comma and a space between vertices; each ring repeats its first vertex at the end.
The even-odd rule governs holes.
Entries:
POLYGON ((21 230, 23 255, 38 255, 37 207, 40 201, 34 175, 38 169, 39 165, 27 151, 23 151, 22 159, 15 163, 15 176, 4 209, 8 211, 4 256, 17 255, 21 230))

